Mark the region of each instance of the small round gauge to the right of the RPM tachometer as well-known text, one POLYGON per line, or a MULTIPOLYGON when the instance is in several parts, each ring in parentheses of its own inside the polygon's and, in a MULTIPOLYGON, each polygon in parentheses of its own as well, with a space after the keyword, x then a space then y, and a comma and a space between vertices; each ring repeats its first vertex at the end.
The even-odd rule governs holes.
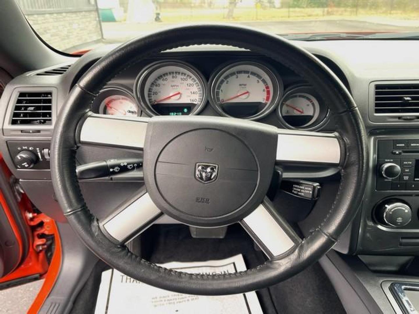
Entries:
POLYGON ((321 98, 313 88, 299 86, 285 93, 278 114, 291 129, 314 129, 326 120, 328 108, 321 104, 321 98))

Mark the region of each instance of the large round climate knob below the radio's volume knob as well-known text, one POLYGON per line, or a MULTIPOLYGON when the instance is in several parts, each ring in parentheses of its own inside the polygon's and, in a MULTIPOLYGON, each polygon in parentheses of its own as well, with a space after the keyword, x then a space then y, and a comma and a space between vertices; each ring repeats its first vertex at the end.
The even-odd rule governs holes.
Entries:
POLYGON ((381 204, 376 213, 377 220, 389 227, 403 227, 412 219, 412 210, 409 205, 401 201, 388 201, 381 204))

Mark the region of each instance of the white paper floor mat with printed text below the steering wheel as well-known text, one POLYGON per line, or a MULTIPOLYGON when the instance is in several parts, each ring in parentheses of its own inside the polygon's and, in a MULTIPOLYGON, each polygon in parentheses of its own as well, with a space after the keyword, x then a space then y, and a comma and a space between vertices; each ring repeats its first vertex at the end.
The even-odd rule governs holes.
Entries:
MULTIPOLYGON (((186 273, 217 274, 246 270, 242 255, 225 260, 161 266, 186 273)), ((255 292, 230 296, 193 296, 136 281, 118 270, 102 273, 95 314, 263 314, 255 292)))

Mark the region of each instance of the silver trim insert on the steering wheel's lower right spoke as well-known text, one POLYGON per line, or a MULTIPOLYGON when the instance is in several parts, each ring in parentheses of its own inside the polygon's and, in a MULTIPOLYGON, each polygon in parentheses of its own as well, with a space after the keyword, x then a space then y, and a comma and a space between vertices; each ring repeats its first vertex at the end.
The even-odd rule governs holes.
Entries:
POLYGON ((243 223, 246 224, 246 231, 250 231, 250 236, 258 245, 261 245, 261 249, 268 256, 279 256, 295 245, 262 204, 244 218, 243 223))

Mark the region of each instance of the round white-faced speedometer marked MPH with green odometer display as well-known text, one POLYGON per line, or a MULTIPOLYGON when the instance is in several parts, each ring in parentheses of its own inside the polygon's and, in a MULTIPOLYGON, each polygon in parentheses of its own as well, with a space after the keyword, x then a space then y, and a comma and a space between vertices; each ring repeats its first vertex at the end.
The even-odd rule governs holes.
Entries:
POLYGON ((150 116, 198 113, 205 105, 205 79, 184 62, 150 64, 135 82, 136 97, 150 116))

